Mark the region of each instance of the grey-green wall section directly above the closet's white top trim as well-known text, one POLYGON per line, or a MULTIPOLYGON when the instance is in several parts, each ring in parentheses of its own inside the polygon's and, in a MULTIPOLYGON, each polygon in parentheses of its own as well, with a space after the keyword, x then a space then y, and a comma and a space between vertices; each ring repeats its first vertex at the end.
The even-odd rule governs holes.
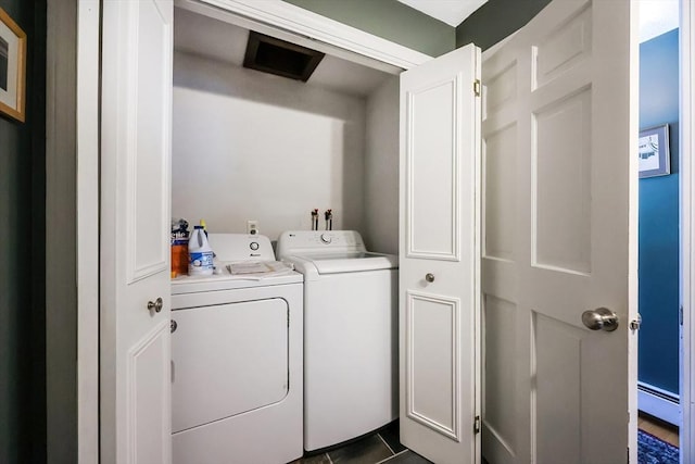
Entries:
POLYGON ((285 0, 431 57, 454 50, 456 29, 396 0, 285 0))

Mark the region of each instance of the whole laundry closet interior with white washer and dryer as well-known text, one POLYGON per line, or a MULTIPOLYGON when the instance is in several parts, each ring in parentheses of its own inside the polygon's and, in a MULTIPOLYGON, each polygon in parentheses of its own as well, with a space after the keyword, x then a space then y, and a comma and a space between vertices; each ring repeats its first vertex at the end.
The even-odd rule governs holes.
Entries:
POLYGON ((397 416, 401 70, 205 11, 174 16, 172 217, 216 265, 172 281, 173 457, 289 462, 397 416))

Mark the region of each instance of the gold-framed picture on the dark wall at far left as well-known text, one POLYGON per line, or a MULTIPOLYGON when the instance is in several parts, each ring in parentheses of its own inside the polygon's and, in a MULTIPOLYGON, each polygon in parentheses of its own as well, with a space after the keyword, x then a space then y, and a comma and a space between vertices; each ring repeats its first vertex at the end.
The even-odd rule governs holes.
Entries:
POLYGON ((0 8, 0 115, 24 122, 26 34, 0 8))

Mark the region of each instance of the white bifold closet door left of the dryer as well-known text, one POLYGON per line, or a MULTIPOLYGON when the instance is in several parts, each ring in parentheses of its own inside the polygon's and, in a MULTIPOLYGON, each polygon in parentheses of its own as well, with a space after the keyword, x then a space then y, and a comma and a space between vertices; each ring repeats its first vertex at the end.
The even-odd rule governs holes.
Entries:
POLYGON ((103 2, 102 463, 172 461, 172 21, 170 0, 103 2))

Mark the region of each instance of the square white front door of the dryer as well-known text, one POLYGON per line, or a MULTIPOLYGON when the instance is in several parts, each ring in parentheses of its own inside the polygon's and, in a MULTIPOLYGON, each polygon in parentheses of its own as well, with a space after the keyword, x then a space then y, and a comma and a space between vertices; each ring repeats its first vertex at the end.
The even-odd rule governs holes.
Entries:
POLYGON ((173 312, 174 432, 282 401, 288 316, 281 298, 173 312))

